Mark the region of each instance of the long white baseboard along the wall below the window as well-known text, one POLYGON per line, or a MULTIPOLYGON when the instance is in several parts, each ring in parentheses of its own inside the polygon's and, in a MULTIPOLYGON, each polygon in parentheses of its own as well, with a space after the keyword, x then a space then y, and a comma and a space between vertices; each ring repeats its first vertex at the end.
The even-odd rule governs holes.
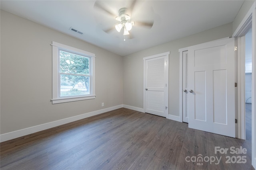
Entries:
POLYGON ((52 122, 49 122, 49 123, 44 123, 42 125, 36 125, 36 126, 33 126, 33 127, 20 129, 18 131, 4 133, 4 134, 0 135, 0 142, 8 141, 8 140, 11 140, 11 139, 15 139, 17 137, 22 137, 22 136, 29 135, 29 134, 32 134, 32 133, 36 133, 36 132, 39 132, 39 131, 50 129, 52 127, 64 125, 66 123, 70 123, 70 122, 73 122, 73 121, 77 121, 77 120, 80 120, 80 119, 84 119, 84 118, 87 118, 87 117, 91 117, 91 116, 94 116, 94 115, 98 115, 98 114, 101 114, 101 113, 105 113, 105 112, 108 112, 108 111, 119 109, 119 108, 122 108, 122 107, 123 107, 123 105, 108 107, 106 109, 92 111, 92 112, 89 112, 89 113, 84 113, 82 115, 68 117, 66 119, 52 121, 52 122))

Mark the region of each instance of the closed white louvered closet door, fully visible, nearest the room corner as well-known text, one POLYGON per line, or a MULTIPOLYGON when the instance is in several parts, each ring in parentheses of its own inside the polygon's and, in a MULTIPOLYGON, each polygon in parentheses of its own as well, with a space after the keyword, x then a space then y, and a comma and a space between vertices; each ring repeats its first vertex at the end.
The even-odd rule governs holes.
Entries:
POLYGON ((166 117, 164 105, 164 57, 146 60, 145 112, 166 117))

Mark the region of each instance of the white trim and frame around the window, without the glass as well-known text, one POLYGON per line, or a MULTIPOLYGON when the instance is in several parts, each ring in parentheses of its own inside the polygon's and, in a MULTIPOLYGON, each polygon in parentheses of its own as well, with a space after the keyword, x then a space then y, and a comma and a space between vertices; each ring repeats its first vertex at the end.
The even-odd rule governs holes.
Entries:
POLYGON ((89 100, 95 99, 95 54, 89 53, 87 51, 70 47, 61 43, 52 41, 52 104, 64 103, 64 102, 74 102, 79 100, 89 100), (74 52, 76 54, 84 55, 90 57, 90 71, 91 71, 91 84, 90 84, 90 95, 83 96, 68 96, 68 97, 59 97, 59 49, 66 49, 68 51, 74 52))

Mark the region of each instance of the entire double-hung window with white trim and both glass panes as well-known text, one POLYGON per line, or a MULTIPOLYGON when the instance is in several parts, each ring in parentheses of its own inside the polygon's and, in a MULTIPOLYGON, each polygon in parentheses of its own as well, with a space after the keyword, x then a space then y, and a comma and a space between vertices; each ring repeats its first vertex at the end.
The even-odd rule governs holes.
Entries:
POLYGON ((52 41, 52 104, 95 98, 95 54, 52 41))

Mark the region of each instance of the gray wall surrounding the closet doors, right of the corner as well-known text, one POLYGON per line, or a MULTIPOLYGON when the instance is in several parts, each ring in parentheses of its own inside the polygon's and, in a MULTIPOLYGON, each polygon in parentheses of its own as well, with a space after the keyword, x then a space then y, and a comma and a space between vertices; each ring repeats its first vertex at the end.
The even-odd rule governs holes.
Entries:
POLYGON ((143 57, 170 51, 169 114, 179 116, 180 48, 232 36, 232 23, 177 39, 124 57, 124 104, 143 108, 143 57))

